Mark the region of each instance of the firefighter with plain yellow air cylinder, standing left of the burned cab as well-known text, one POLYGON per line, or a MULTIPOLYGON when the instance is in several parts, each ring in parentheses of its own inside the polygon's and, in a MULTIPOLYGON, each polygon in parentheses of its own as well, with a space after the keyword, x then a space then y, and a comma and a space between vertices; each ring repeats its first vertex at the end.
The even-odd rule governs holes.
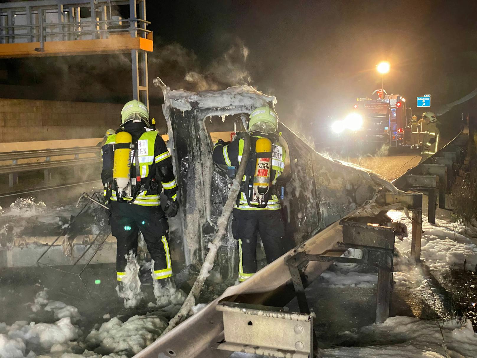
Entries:
POLYGON ((111 209, 111 232, 117 240, 116 278, 126 275, 127 255, 137 253, 138 232, 154 260, 153 279, 173 284, 167 217, 177 214, 177 185, 171 155, 156 130, 150 129, 149 111, 137 100, 124 105, 121 127, 102 148, 101 179, 111 209), (159 194, 164 189, 164 211, 159 194), (166 217, 167 216, 167 217, 166 217))

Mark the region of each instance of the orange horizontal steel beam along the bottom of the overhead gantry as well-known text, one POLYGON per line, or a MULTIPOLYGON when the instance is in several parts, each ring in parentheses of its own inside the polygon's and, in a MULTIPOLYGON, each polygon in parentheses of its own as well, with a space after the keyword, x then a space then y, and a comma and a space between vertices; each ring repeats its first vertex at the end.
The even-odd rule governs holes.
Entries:
MULTIPOLYGON (((54 36, 54 33, 51 34, 54 36)), ((73 40, 73 41, 45 41, 44 52, 35 51, 40 42, 2 43, 0 44, 0 58, 56 56, 56 55, 84 55, 99 53, 116 53, 129 50, 153 51, 152 36, 147 39, 131 37, 129 34, 110 35, 107 39, 73 40)))

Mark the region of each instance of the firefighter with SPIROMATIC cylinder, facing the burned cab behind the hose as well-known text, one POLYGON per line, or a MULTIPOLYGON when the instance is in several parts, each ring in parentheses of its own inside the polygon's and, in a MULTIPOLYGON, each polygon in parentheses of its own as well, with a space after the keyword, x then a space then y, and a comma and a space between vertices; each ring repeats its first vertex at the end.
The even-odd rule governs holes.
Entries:
MULTIPOLYGON (((250 114, 250 157, 233 210, 232 234, 239 250, 239 281, 257 271, 257 234, 265 249, 267 263, 283 253, 285 224, 275 184, 285 168, 285 149, 278 141, 278 116, 268 106, 250 114), (270 165, 271 164, 271 165, 270 165)), ((238 135, 232 142, 219 140, 213 158, 219 165, 238 167, 244 139, 238 135)))

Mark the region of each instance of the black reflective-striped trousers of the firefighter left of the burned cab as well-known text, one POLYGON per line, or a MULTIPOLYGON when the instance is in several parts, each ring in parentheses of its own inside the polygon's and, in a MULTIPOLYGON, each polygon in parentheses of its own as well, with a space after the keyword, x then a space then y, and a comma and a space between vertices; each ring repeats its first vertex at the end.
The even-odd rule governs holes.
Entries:
POLYGON ((169 253, 169 225, 160 206, 141 206, 111 202, 111 232, 117 240, 116 277, 121 281, 126 274, 127 255, 137 253, 137 235, 143 234, 147 251, 154 260, 156 280, 172 276, 169 253))

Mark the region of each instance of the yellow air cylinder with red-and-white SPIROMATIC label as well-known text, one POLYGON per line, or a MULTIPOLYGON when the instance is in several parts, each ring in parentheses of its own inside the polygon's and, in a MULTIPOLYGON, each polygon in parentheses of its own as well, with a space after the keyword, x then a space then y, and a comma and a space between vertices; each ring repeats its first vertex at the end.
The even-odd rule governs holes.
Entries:
MULTIPOLYGON (((255 151, 260 153, 271 153, 271 141, 268 138, 259 138, 255 143, 255 151)), ((271 154, 270 154, 271 157, 271 154)), ((271 158, 257 158, 255 175, 253 177, 253 197, 252 201, 259 204, 264 203, 264 195, 270 188, 271 158)))

